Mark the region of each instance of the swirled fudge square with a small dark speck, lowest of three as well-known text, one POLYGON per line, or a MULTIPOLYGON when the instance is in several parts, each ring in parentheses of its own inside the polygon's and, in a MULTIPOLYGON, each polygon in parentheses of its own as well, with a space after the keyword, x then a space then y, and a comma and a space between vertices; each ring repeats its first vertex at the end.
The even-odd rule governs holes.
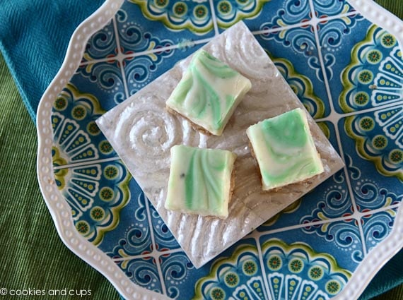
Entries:
POLYGON ((236 155, 228 150, 175 145, 170 150, 167 210, 228 217, 236 155))

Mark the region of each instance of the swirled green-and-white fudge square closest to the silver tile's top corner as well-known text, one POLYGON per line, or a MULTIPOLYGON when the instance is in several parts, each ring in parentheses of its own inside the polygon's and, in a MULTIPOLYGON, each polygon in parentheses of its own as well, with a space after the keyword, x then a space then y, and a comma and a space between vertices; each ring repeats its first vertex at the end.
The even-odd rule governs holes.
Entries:
POLYGON ((251 88, 250 80, 204 50, 194 54, 166 102, 204 133, 221 136, 230 116, 251 88))

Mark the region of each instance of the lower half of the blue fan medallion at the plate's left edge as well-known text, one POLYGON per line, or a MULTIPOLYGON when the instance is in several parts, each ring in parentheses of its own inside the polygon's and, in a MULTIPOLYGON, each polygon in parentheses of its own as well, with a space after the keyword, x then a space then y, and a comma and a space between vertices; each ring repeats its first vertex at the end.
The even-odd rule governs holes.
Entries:
POLYGON ((55 170, 77 231, 95 245, 119 224, 119 212, 129 203, 131 178, 119 160, 55 170))

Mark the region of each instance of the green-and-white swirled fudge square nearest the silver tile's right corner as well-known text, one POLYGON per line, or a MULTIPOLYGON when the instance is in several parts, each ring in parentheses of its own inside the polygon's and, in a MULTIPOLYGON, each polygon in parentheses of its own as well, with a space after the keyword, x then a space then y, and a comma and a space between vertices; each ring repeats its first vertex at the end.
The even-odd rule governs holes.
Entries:
POLYGON ((303 109, 293 109, 247 128, 264 191, 324 171, 303 109))

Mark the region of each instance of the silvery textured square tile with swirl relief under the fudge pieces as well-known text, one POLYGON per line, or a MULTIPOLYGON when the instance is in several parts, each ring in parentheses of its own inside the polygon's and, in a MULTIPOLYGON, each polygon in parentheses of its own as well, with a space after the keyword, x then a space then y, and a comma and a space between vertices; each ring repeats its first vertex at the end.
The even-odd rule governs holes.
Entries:
POLYGON ((180 61, 97 120, 101 131, 197 268, 344 165, 332 144, 308 115, 310 131, 325 172, 303 183, 276 191, 262 191, 259 172, 250 154, 246 128, 296 107, 303 108, 303 104, 243 22, 214 37, 203 49, 252 83, 250 92, 235 109, 222 136, 205 136, 195 131, 181 116, 170 114, 165 109, 166 100, 185 73, 192 56, 180 61), (180 144, 230 150, 238 155, 235 188, 225 220, 186 215, 164 208, 170 148, 180 144))

